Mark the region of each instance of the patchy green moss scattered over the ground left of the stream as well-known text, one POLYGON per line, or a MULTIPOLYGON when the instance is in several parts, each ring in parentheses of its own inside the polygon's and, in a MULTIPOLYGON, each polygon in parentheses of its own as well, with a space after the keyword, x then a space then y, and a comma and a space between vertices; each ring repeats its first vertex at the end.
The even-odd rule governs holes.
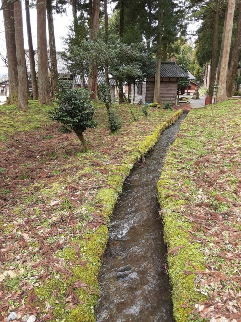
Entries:
MULTIPOLYGON (((34 129, 40 128, 43 123, 46 124, 46 122, 49 122, 48 117, 46 117, 45 114, 50 107, 38 106, 36 102, 33 102, 30 105, 30 109, 27 113, 18 110, 14 106, 4 108, 3 115, 6 126, 0 126, 0 134, 1 131, 6 132, 6 135, 14 134, 17 131, 33 131, 34 129), (11 113, 13 114, 13 117, 10 119, 9 115, 11 115, 11 113), (19 122, 16 122, 16 120, 19 122)), ((139 118, 142 118, 138 108, 134 107, 133 110, 139 118)), ((103 109, 97 112, 99 112, 102 117, 106 113, 105 107, 103 106, 103 109)), ((18 215, 18 218, 36 216, 38 221, 33 223, 34 227, 41 226, 42 229, 49 229, 49 224, 53 223, 53 220, 50 217, 54 216, 56 218, 61 218, 67 216, 70 212, 75 214, 78 220, 78 223, 74 228, 69 226, 66 228, 66 231, 60 235, 55 237, 50 236, 45 240, 46 243, 49 243, 49 245, 52 246, 51 244, 58 242, 61 238, 66 239, 65 241, 67 242, 64 244, 63 249, 55 252, 54 256, 56 256, 58 265, 61 265, 61 267, 66 266, 73 274, 73 276, 65 276, 64 274, 57 274, 54 270, 48 268, 50 278, 46 280, 43 285, 35 287, 34 289, 36 295, 40 298, 41 303, 43 303, 41 310, 44 310, 45 305, 48 303, 52 306, 53 319, 66 319, 66 322, 94 321, 94 306, 97 302, 97 294, 91 294, 85 301, 86 291, 83 289, 75 289, 78 298, 85 301, 85 304, 76 305, 75 309, 66 309, 68 305, 66 302, 66 291, 75 280, 84 281, 90 288, 99 289, 97 275, 101 267, 101 258, 108 241, 108 228, 107 225, 102 225, 95 231, 91 231, 88 227, 88 221, 93 220, 92 214, 97 212, 107 223, 110 222, 113 208, 117 203, 117 197, 122 191, 124 179, 129 175, 136 160, 140 159, 141 156, 145 155, 156 144, 161 132, 172 124, 181 113, 182 111, 168 111, 164 113, 163 111, 160 112, 160 110, 155 109, 152 116, 149 115, 145 118, 145 122, 150 122, 150 125, 147 123, 148 130, 144 132, 144 134, 148 132, 152 133, 152 135, 141 137, 138 128, 139 124, 133 126, 132 134, 141 140, 139 142, 132 142, 132 136, 127 137, 125 136, 125 133, 118 133, 124 141, 123 146, 126 145, 125 148, 121 146, 122 150, 117 145, 116 151, 114 151, 117 152, 117 154, 121 151, 124 152, 122 159, 118 163, 114 162, 112 164, 109 155, 103 156, 103 154, 97 151, 89 150, 86 153, 77 153, 77 155, 75 155, 77 157, 77 162, 84 167, 83 170, 73 172, 71 175, 64 177, 59 175, 53 182, 43 180, 38 184, 31 185, 30 187, 21 190, 23 193, 21 196, 21 203, 16 204, 13 212, 18 215), (160 120, 165 120, 165 122, 161 123, 160 120), (156 124, 158 124, 158 126, 156 126, 156 124), (153 127, 155 128, 153 129, 153 127), (88 158, 88 161, 85 158, 88 158), (97 166, 93 166, 91 160, 101 160, 104 166, 96 169, 97 166), (98 171, 102 169, 108 169, 109 172, 103 176, 101 171, 98 171), (98 190, 97 194, 95 194, 95 192, 92 194, 93 190, 91 190, 90 196, 83 193, 81 204, 79 204, 79 206, 74 204, 73 206, 71 204, 71 198, 64 196, 65 194, 68 194, 66 187, 69 183, 75 184, 76 181, 82 179, 85 184, 85 181, 87 181, 85 179, 89 178, 89 174, 94 174, 94 179, 99 178, 99 181, 102 182, 103 185, 107 184, 108 187, 98 190), (102 179, 104 180, 101 181, 102 179), (36 186, 38 186, 38 189, 35 189, 36 186), (31 193, 31 191, 35 192, 31 193), (56 200, 59 200, 59 204, 49 207, 49 204, 56 200), (32 208, 30 207, 31 204, 33 204, 32 208), (51 216, 42 216, 42 208, 38 208, 38 204, 46 204, 48 209, 50 209, 51 216), (98 207, 95 207, 96 204, 98 207), (68 243, 68 241, 71 243, 68 243), (80 247, 81 258, 78 258, 76 255, 75 244, 80 247), (86 265, 82 266, 82 261, 86 261, 86 265)), ((132 118, 131 115, 129 115, 129 118, 132 118)), ((104 122, 105 121, 101 122, 101 127, 105 126, 104 122)), ((42 139, 49 140, 51 139, 51 136, 46 135, 43 136, 42 139)), ((105 147, 104 144, 103 147, 105 147)), ((37 146, 35 146, 35 148, 37 148, 37 146)), ((49 158, 56 159, 57 157, 58 153, 49 153, 46 155, 46 161, 49 158)), ((67 168, 76 164, 76 159, 71 161, 71 164, 68 163, 66 165, 67 168)), ((30 165, 23 165, 24 168, 22 168, 21 173, 22 178, 24 178, 23 176, 26 178, 26 175, 28 175, 28 166, 30 165)), ((55 173, 58 169, 54 169, 53 171, 55 173)), ((92 178, 90 178, 90 182, 93 184, 92 178)), ((65 227, 64 225, 66 222, 63 222, 63 227, 65 227)), ((4 231, 5 229, 11 231, 12 228, 14 228, 13 225, 4 227, 4 231)), ((21 237, 21 235, 19 235, 19 237, 21 237)), ((32 248, 37 248, 39 246, 38 242, 33 241, 29 242, 28 245, 32 248)), ((36 254, 33 258, 36 262, 44 259, 45 258, 40 254, 36 254)), ((43 268, 40 267, 40 270, 43 270, 43 268)))

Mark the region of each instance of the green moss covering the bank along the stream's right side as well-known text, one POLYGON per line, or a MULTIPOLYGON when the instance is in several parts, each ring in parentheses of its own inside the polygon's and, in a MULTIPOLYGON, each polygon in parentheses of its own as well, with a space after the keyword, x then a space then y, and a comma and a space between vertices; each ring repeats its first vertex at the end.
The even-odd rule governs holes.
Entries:
MULTIPOLYGON (((235 123, 233 119, 235 112, 233 112, 231 120, 227 121, 232 109, 235 110, 233 102, 223 102, 211 108, 191 111, 182 123, 180 137, 175 140, 168 151, 160 180, 157 183, 158 202, 162 208, 164 238, 167 248, 172 250, 178 246, 186 246, 180 249, 177 254, 169 253, 167 256, 176 322, 189 320, 198 322, 202 320, 198 316, 190 315, 190 311, 194 308, 195 303, 205 301, 207 297, 195 290, 196 275, 186 275, 184 272, 194 272, 195 269, 192 265, 200 271, 205 270, 206 267, 202 263, 205 263, 206 260, 200 244, 195 240, 190 242, 190 235, 187 232, 192 232, 194 224, 185 218, 185 207, 187 205, 185 199, 188 195, 189 202, 196 201, 199 189, 190 173, 193 173, 196 161, 199 161, 203 156, 210 155, 209 149, 211 149, 213 155, 218 151, 215 145, 217 142, 223 141, 223 123, 227 122, 226 127, 228 127, 229 122, 230 125, 235 123), (210 140, 212 141, 210 142, 210 140), (184 192, 183 185, 185 185, 184 192)), ((229 129, 230 137, 232 137, 234 128, 229 129)), ((227 130, 225 135, 228 135, 227 130)), ((206 176, 202 176, 201 173, 208 172, 209 158, 206 162, 207 166, 204 164, 203 168, 197 165, 199 175, 204 180, 206 176)), ((224 163, 224 166, 228 165, 224 163)), ((214 168, 212 171, 215 173, 217 169, 214 168)), ((231 184, 235 187, 237 178, 232 175, 229 175, 229 178, 231 178, 231 184)), ((225 181, 224 178, 223 181, 225 181)), ((206 193, 209 194, 209 202, 216 211, 226 211, 231 207, 227 202, 216 199, 218 191, 209 189, 206 193)), ((234 196, 232 197, 229 192, 226 193, 227 196, 234 199, 234 196)), ((209 240, 211 240, 211 236, 209 236, 209 240)))

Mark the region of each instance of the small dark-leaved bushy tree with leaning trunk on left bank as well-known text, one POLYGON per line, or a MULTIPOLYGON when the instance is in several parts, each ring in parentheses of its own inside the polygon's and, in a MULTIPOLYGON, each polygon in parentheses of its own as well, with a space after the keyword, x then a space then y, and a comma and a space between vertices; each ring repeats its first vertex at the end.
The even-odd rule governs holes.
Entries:
POLYGON ((56 94, 58 106, 49 111, 49 117, 63 124, 58 130, 63 133, 74 131, 83 148, 87 143, 83 136, 86 128, 95 128, 94 107, 91 104, 91 92, 83 88, 71 88, 72 83, 60 81, 60 92, 56 94))

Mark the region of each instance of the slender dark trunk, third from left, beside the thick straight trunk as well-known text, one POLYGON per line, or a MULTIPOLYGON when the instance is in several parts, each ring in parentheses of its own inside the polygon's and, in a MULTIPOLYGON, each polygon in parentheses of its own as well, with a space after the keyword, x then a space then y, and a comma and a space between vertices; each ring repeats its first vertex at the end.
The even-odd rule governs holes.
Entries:
POLYGON ((28 45, 29 45, 29 62, 30 62, 30 71, 31 71, 32 95, 33 95, 33 99, 38 99, 38 85, 37 85, 35 62, 34 62, 29 0, 25 0, 25 9, 26 9, 26 23, 27 23, 28 45))

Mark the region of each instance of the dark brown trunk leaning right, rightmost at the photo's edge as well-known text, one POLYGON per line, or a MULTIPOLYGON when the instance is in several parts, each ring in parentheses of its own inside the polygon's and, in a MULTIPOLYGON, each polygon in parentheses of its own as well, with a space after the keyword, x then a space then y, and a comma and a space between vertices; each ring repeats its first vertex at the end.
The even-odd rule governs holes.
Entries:
POLYGON ((234 41, 231 64, 230 64, 229 72, 228 72, 228 80, 227 80, 227 95, 228 96, 232 96, 233 84, 234 84, 235 76, 237 73, 238 61, 239 61, 239 56, 240 56, 240 51, 241 51, 240 39, 241 39, 241 1, 239 3, 239 7, 238 7, 237 28, 236 28, 236 33, 235 33, 235 41, 234 41))

